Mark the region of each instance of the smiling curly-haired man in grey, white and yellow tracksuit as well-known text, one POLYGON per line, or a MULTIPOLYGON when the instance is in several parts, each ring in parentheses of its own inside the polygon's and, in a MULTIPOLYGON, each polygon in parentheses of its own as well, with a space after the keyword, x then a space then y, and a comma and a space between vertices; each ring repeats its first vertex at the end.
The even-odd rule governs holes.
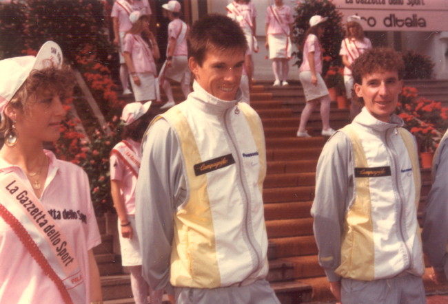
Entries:
POLYGON ((416 143, 394 114, 404 68, 390 49, 354 61, 353 97, 364 108, 329 138, 318 161, 319 263, 344 304, 426 303, 416 143))

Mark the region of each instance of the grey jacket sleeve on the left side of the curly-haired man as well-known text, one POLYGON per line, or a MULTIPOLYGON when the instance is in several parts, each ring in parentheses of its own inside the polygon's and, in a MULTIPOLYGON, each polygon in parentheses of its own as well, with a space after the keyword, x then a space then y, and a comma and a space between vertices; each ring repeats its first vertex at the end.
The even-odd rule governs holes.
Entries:
POLYGON ((325 144, 316 171, 316 197, 311 214, 319 264, 330 282, 339 281, 334 273, 340 265, 343 221, 354 200, 352 143, 343 132, 336 132, 325 144))

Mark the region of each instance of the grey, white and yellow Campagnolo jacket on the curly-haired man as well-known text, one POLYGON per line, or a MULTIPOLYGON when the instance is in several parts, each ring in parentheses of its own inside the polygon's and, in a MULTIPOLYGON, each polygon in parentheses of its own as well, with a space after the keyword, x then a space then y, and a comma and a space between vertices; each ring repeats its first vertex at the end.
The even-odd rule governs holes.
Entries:
POLYGON ((329 139, 312 206, 319 263, 329 281, 422 276, 417 207, 420 169, 413 136, 392 114, 367 109, 329 139))

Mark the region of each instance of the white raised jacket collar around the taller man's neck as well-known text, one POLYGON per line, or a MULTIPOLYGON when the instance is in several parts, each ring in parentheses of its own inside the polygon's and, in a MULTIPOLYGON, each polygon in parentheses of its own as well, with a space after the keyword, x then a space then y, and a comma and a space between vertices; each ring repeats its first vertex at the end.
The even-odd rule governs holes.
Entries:
POLYGON ((192 98, 194 102, 201 107, 201 109, 211 111, 212 113, 222 113, 227 109, 235 107, 238 102, 243 98, 243 92, 238 87, 236 91, 235 99, 232 101, 222 100, 212 96, 212 94, 208 93, 199 85, 196 80, 193 83, 193 92, 188 96, 192 98))

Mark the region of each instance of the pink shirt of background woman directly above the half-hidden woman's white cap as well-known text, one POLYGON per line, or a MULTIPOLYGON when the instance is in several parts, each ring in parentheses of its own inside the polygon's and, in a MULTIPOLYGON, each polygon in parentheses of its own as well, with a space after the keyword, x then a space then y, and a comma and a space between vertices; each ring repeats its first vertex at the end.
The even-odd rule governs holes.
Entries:
POLYGON ((132 61, 134 62, 134 69, 137 73, 155 73, 152 69, 152 62, 154 57, 152 56, 153 50, 148 47, 147 43, 143 41, 139 34, 126 34, 123 39, 123 50, 131 54, 132 61))

